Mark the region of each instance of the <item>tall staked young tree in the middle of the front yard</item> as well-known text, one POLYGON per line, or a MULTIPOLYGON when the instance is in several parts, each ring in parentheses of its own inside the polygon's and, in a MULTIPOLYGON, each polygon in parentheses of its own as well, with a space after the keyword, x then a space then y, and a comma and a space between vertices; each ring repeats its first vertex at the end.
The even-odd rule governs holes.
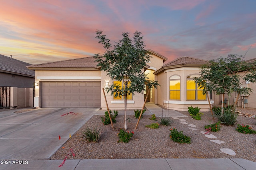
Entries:
MULTIPOLYGON (((110 39, 106 35, 102 35, 102 31, 96 31, 96 38, 100 41, 104 49, 103 55, 96 54, 95 61, 101 70, 106 71, 112 80, 120 81, 122 84, 111 84, 105 90, 111 92, 115 97, 124 96, 124 129, 126 125, 126 106, 127 96, 135 92, 142 93, 145 89, 145 82, 148 78, 144 74, 144 68, 150 61, 150 52, 145 50, 143 37, 141 32, 134 33, 133 41, 129 38, 129 33, 122 33, 123 38, 114 45, 113 49, 110 39)), ((159 84, 157 81, 151 80, 148 84, 149 88, 156 88, 159 84)))

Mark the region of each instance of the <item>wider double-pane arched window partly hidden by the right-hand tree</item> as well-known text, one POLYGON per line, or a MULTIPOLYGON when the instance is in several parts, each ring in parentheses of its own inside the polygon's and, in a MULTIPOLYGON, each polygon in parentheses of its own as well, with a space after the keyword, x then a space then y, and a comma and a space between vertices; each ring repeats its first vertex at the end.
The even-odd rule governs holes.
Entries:
POLYGON ((199 88, 193 80, 195 77, 200 75, 193 74, 186 78, 186 100, 206 100, 206 95, 202 94, 203 89, 199 88))

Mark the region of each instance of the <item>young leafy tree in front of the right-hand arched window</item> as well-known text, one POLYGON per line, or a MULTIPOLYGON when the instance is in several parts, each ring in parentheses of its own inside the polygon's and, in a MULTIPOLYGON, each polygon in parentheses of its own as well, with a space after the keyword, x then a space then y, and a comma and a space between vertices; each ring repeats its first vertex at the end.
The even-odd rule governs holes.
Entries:
MULTIPOLYGON (((222 94, 222 108, 224 107, 224 94, 229 97, 232 92, 238 94, 250 94, 251 88, 241 87, 241 79, 250 82, 256 82, 255 63, 246 63, 241 55, 228 55, 227 58, 219 57, 216 60, 210 60, 209 64, 200 68, 200 77, 194 80, 198 86, 203 88, 203 94, 209 91, 217 95, 222 94), (240 74, 239 74, 240 73, 240 74)), ((223 109, 222 109, 223 110, 223 109)))

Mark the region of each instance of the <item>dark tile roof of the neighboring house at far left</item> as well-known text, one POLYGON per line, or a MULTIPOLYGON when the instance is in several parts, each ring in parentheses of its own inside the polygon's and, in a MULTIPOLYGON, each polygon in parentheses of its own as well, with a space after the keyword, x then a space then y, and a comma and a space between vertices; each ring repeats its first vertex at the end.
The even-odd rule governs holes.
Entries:
POLYGON ((30 65, 12 57, 0 55, 0 72, 16 74, 27 77, 35 77, 35 71, 29 70, 26 66, 30 65))

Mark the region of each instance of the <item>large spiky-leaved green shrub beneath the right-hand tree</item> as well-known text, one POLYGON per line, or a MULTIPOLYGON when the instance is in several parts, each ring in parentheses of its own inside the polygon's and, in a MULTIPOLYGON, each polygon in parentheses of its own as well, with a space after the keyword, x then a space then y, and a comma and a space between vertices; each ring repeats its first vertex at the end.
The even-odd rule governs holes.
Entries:
POLYGON ((236 123, 236 119, 238 114, 236 113, 235 109, 232 107, 225 107, 223 108, 224 113, 220 115, 216 115, 219 121, 227 126, 234 125, 236 123))

